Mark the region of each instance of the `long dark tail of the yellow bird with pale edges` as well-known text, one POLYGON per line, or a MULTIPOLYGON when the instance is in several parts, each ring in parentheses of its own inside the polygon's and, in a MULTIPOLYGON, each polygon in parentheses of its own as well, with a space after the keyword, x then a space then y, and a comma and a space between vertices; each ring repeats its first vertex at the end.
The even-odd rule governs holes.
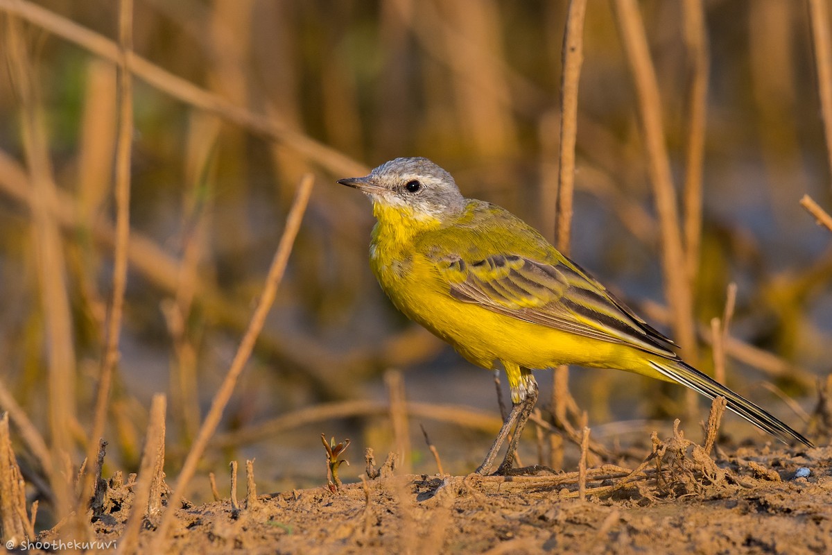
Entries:
POLYGON ((802 434, 795 432, 788 424, 681 360, 651 360, 650 365, 666 379, 670 379, 677 384, 686 385, 709 399, 716 399, 720 395, 725 397, 730 411, 739 414, 751 424, 765 430, 785 444, 790 443, 792 439, 797 439, 806 447, 815 447, 812 442, 805 439, 802 434))

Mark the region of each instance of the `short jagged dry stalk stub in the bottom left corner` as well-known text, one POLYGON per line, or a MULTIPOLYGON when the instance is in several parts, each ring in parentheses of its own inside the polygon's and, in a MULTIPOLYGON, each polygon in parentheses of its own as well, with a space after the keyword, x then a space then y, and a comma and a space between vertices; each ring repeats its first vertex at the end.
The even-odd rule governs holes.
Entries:
POLYGON ((26 484, 12 450, 8 413, 4 412, 0 417, 0 538, 3 545, 17 546, 24 540, 33 539, 33 522, 26 511, 26 484))

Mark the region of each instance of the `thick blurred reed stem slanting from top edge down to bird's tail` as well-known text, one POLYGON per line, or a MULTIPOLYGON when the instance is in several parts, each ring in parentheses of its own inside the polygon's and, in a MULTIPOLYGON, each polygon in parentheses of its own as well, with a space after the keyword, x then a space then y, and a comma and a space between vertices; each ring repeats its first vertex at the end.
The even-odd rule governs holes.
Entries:
MULTIPOLYGON (((681 243, 676 190, 673 187, 670 159, 661 120, 661 95, 650 48, 635 0, 615 0, 617 24, 626 51, 627 62, 636 88, 641 130, 647 151, 647 169, 656 198, 656 213, 661 228, 661 263, 667 302, 671 309, 673 329, 691 364, 696 365, 696 330, 694 328, 691 283, 685 268, 681 243)), ((696 393, 687 398, 689 408, 695 406, 696 393)))

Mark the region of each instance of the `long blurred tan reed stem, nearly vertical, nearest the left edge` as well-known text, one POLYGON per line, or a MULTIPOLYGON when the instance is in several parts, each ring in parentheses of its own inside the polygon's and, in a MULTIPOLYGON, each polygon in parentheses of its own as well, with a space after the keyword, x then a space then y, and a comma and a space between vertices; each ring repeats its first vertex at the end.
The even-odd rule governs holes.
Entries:
MULTIPOLYGON (((52 468, 72 451, 70 424, 75 420, 76 369, 72 339, 72 313, 67 295, 66 264, 58 223, 50 206, 55 202, 57 186, 52 180, 52 164, 47 148, 46 125, 40 106, 37 84, 32 80, 32 62, 27 54, 21 22, 7 17, 7 59, 12 85, 17 92, 22 114, 23 150, 27 160, 32 209, 32 243, 37 261, 37 280, 41 310, 46 327, 48 360, 48 412, 52 436, 52 468)), ((66 477, 50 476, 55 494, 57 520, 67 515, 72 493, 66 477)))

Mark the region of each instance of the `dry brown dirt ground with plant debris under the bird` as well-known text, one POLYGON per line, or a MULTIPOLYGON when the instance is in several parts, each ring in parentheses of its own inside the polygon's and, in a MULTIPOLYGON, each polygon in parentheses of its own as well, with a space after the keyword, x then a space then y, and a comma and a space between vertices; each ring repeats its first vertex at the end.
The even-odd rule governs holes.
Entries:
MULTIPOLYGON (((680 434, 636 472, 613 465, 514 477, 396 476, 187 506, 171 553, 832 553, 832 447, 739 448, 713 461, 680 434), (796 478, 799 468, 810 475, 796 478)), ((384 470, 384 469, 383 469, 384 470)), ((118 539, 131 484, 93 526, 118 539)), ((140 535, 146 547, 158 518, 140 535)), ((49 541, 60 530, 42 533, 49 541)))

